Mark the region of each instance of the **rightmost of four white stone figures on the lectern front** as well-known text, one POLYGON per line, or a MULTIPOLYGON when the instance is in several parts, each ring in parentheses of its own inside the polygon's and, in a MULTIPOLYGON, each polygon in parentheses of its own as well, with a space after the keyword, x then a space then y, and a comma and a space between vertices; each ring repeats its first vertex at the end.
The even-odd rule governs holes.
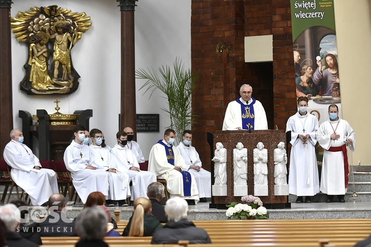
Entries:
POLYGON ((287 184, 287 154, 284 142, 279 142, 275 149, 275 184, 287 184))

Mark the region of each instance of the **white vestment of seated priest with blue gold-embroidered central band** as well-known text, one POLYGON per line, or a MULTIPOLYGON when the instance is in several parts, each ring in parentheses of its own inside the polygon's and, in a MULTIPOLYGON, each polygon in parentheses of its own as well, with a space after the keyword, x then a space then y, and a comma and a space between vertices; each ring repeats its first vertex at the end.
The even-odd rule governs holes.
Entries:
MULTIPOLYGON (((171 145, 164 140, 162 140, 162 142, 166 146, 171 147, 171 145)), ((194 179, 194 176, 192 173, 189 173, 191 176, 191 196, 185 197, 183 189, 183 175, 181 172, 174 169, 175 166, 179 166, 181 169, 185 170, 185 161, 176 147, 173 147, 173 153, 175 159, 174 165, 171 165, 168 163, 165 147, 159 143, 153 145, 151 152, 149 153, 148 170, 155 173, 158 178, 166 179, 166 187, 172 196, 180 196, 183 199, 194 200, 195 203, 197 203, 200 199, 198 197, 197 183, 194 179)))

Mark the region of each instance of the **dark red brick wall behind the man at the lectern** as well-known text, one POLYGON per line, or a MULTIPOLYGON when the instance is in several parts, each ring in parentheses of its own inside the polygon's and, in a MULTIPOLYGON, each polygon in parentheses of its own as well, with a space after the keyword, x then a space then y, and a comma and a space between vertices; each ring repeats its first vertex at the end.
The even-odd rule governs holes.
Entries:
POLYGON ((192 0, 191 66, 200 73, 192 95, 193 142, 204 168, 210 170, 206 133, 221 130, 228 102, 248 83, 262 102, 269 128, 285 128, 296 112, 289 0, 192 0), (273 62, 245 63, 244 37, 273 35, 273 62), (216 52, 224 42, 226 59, 216 52))

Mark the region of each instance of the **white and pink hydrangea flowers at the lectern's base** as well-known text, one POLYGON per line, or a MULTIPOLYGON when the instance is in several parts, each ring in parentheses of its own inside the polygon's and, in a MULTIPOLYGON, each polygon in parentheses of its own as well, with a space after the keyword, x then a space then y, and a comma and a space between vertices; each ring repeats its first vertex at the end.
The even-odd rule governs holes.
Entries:
POLYGON ((226 215, 228 219, 268 219, 269 212, 263 206, 262 200, 259 197, 243 196, 242 203, 232 202, 227 205, 228 209, 226 215))

